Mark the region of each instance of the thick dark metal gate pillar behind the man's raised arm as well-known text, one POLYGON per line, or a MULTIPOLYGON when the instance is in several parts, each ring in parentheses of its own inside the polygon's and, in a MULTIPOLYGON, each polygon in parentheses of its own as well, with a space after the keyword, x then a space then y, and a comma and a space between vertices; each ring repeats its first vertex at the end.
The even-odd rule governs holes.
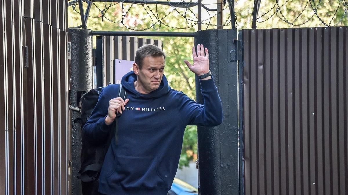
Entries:
MULTIPOLYGON (((195 45, 209 50, 209 65, 219 90, 223 123, 198 126, 199 193, 239 194, 238 171, 238 66, 235 61, 236 29, 196 32, 195 45)), ((196 98, 203 104, 196 77, 196 98)))

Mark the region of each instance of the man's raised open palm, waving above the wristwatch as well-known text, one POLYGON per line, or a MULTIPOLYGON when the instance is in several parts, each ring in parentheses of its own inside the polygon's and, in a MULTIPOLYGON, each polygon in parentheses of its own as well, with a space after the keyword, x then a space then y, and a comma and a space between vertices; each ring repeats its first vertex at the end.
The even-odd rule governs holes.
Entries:
POLYGON ((186 65, 189 67, 189 69, 195 73, 196 75, 204 75, 208 73, 209 71, 209 54, 208 49, 205 48, 203 45, 198 44, 197 45, 197 53, 195 46, 192 47, 192 57, 193 57, 193 64, 187 60, 184 60, 186 65))

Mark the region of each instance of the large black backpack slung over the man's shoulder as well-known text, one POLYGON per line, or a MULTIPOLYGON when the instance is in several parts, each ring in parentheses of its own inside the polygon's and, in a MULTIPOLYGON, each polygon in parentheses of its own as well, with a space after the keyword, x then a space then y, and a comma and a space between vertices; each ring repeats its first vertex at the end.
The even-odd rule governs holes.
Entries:
MULTIPOLYGON (((81 135, 82 129, 92 115, 92 111, 95 105, 98 102, 99 94, 104 87, 99 87, 90 90, 81 96, 81 118, 75 120, 76 123, 81 124, 81 135)), ((120 84, 119 87, 119 97, 122 97, 124 100, 127 96, 127 91, 120 84), (121 89, 121 90, 120 90, 121 89)), ((120 113, 117 113, 116 118, 121 116, 120 113)), ((103 145, 92 145, 84 141, 83 136, 81 136, 81 168, 78 172, 77 177, 81 179, 82 185, 82 194, 84 195, 94 195, 98 194, 98 178, 99 173, 104 162, 105 154, 109 149, 111 139, 113 136, 116 136, 117 139, 117 122, 114 128, 114 131, 109 134, 107 141, 103 145)))

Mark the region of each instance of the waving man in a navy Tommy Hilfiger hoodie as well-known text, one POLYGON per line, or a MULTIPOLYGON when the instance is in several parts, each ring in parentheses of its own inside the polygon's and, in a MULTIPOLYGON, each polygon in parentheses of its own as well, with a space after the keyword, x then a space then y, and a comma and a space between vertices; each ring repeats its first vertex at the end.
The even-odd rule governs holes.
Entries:
POLYGON ((113 130, 116 113, 118 140, 112 139, 99 177, 102 194, 166 195, 179 163, 187 125, 216 126, 222 122, 222 105, 209 71, 208 49, 192 48, 189 69, 200 76, 204 105, 168 86, 165 54, 155 45, 136 51, 133 71, 121 84, 127 99, 118 97, 118 85, 108 85, 83 132, 96 144, 113 130))

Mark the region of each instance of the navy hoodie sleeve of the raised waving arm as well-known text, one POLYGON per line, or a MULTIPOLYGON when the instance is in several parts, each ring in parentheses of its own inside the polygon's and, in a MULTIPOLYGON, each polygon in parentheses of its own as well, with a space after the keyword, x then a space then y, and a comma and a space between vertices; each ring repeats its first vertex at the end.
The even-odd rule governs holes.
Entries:
POLYGON ((204 104, 180 92, 179 115, 188 125, 217 126, 222 123, 222 104, 213 78, 200 80, 204 104))

